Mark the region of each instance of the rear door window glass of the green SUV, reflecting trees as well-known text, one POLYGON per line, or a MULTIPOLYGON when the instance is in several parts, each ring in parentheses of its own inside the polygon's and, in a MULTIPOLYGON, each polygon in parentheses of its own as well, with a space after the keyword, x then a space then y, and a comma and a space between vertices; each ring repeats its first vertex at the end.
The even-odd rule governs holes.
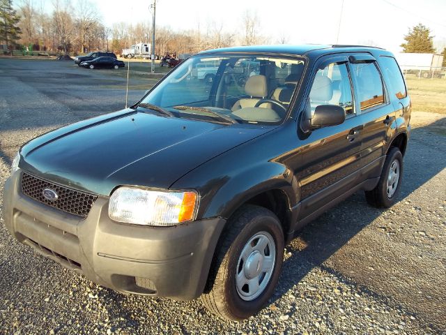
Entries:
POLYGON ((384 103, 384 88, 375 62, 351 64, 361 110, 384 103))

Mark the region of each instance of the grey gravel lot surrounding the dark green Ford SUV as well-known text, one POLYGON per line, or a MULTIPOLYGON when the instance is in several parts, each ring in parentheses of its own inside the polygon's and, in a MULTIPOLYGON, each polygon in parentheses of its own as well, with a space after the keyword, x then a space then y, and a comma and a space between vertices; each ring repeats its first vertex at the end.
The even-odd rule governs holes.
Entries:
MULTIPOLYGON (((123 107, 124 85, 105 70, 0 59, 0 190, 21 144, 123 107)), ((446 118, 414 113, 413 126, 401 201, 378 210, 358 193, 307 225, 275 296, 245 322, 95 285, 18 244, 0 211, 0 334, 446 334, 446 118)))

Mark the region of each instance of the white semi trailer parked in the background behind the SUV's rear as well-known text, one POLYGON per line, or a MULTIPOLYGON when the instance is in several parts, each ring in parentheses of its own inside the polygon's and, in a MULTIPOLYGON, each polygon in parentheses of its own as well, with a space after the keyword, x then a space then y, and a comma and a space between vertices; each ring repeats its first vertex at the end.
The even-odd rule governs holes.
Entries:
POLYGON ((396 54, 403 73, 414 73, 419 77, 444 77, 446 70, 441 67, 443 54, 415 54, 401 52, 396 54))

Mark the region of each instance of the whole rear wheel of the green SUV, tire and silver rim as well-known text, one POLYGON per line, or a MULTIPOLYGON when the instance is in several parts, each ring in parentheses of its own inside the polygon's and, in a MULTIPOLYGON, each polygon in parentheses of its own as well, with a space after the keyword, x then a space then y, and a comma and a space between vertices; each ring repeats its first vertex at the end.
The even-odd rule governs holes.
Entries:
POLYGON ((402 176, 403 155, 399 148, 391 147, 387 152, 378 185, 371 191, 365 191, 367 202, 376 208, 391 207, 397 202, 402 176))

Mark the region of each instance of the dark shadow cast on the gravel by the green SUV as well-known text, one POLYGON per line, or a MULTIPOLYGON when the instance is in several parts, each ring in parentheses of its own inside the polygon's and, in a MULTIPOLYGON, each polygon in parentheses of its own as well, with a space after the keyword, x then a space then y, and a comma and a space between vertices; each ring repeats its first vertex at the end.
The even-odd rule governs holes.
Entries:
MULTIPOLYGON (((445 137, 437 130, 445 129, 445 125, 446 117, 412 131, 404 157, 399 201, 446 167, 446 155, 438 154, 435 149, 444 147, 445 137), (438 142, 438 146, 433 142, 438 142)), ((325 260, 386 210, 370 207, 364 193, 358 192, 302 228, 286 247, 288 258, 284 260, 276 292, 268 304, 274 304, 315 267, 333 271, 323 265, 325 260)))

